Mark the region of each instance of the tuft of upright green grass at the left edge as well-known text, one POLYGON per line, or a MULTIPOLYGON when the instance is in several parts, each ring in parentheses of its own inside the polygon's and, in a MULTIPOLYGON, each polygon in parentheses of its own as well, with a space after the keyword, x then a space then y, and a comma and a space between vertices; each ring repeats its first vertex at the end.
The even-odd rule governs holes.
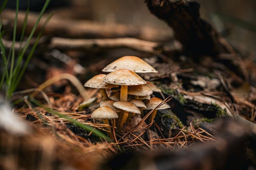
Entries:
MULTIPOLYGON (((5 5, 7 3, 7 0, 4 1, 2 6, 0 7, 0 12, 2 12, 5 8, 5 5)), ((0 23, 0 48, 1 48, 1 78, 0 78, 0 91, 2 91, 6 99, 10 99, 12 96, 12 93, 16 90, 18 87, 18 84, 20 80, 22 79, 24 72, 28 66, 28 63, 33 56, 33 53, 35 51, 35 48, 38 44, 38 41, 41 37, 42 31, 44 30, 46 24, 50 20, 52 15, 49 15, 47 20, 45 21, 44 25, 42 26, 39 34, 36 36, 35 42, 31 46, 30 51, 29 50, 29 42, 32 40, 32 37, 34 36, 35 30, 39 24, 39 21, 42 17, 42 15, 45 13, 47 6, 49 5, 50 0, 46 0, 44 7, 42 8, 35 26, 33 27, 26 43, 24 46, 22 46, 22 42, 24 40, 24 34, 26 30, 26 25, 27 25, 27 19, 28 19, 28 14, 29 14, 29 8, 26 11, 26 16, 24 19, 24 25, 23 25, 23 30, 22 34, 20 35, 20 48, 18 52, 15 53, 15 43, 16 43, 16 29, 17 29, 17 20, 18 20, 18 7, 19 7, 19 0, 16 0, 16 15, 15 15, 15 20, 14 20, 14 29, 13 29, 13 38, 12 38, 12 46, 8 50, 6 49, 4 42, 3 42, 3 35, 4 32, 2 30, 2 21, 0 23), (28 53, 26 57, 26 53, 28 53)))

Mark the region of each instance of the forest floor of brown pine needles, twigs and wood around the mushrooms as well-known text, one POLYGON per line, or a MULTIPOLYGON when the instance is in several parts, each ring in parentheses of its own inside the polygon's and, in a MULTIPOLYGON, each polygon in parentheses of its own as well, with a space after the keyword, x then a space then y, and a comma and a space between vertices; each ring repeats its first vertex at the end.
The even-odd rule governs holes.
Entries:
MULTIPOLYGON (((155 42, 154 35, 166 35, 151 28, 51 18, 11 98, 16 114, 27 120, 30 133, 15 136, 0 131, 0 148, 4 151, 0 167, 146 169, 165 167, 169 162, 176 169, 256 166, 253 56, 239 54, 204 21, 190 20, 189 16, 196 14, 164 18, 168 11, 161 8, 177 5, 175 9, 187 9, 182 4, 161 2, 159 6, 146 1, 153 14, 174 28, 176 37, 168 43, 155 42), (182 30, 180 25, 193 27, 194 32, 182 30), (145 36, 145 30, 152 37, 145 36), (143 111, 129 131, 111 127, 114 140, 108 141, 104 136, 109 125, 90 116, 99 107, 98 90, 84 88, 83 84, 126 55, 138 56, 158 70, 139 75, 161 89, 152 97, 164 100, 171 109, 159 110, 152 123, 147 119, 152 112, 143 111), (93 102, 89 106, 82 106, 90 99, 93 102), (92 127, 89 131, 88 126, 92 127)), ((2 14, 7 48, 14 16, 11 10, 2 14)), ((19 31, 24 17, 25 13, 20 12, 19 31)), ((28 29, 36 17, 29 15, 28 29)))

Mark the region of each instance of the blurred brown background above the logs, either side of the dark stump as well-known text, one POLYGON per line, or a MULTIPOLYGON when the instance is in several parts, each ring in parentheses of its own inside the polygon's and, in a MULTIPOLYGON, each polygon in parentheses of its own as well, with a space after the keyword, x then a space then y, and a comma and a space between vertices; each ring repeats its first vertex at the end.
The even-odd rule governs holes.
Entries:
MULTIPOLYGON (((30 1, 30 9, 39 11, 45 1, 30 1)), ((227 40, 242 52, 255 53, 256 1, 254 0, 198 0, 201 16, 210 22, 227 40)), ((15 0, 8 7, 15 8, 15 0)), ((27 8, 27 0, 20 1, 20 9, 27 8)), ((172 34, 168 26, 150 14, 143 0, 65 0, 51 1, 49 11, 65 18, 94 20, 103 23, 124 23, 148 26, 172 34)))

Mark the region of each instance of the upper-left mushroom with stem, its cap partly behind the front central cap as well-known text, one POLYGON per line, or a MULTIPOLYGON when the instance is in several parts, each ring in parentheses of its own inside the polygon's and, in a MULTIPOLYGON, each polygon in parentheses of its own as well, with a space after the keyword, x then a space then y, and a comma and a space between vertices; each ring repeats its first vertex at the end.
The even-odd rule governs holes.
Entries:
POLYGON ((99 88, 99 92, 101 94, 101 98, 102 100, 108 99, 108 95, 106 94, 105 89, 106 88, 111 88, 113 86, 106 84, 105 82, 103 82, 103 78, 106 75, 104 74, 100 74, 100 75, 96 75, 93 78, 89 79, 84 86, 86 87, 91 87, 91 88, 99 88))

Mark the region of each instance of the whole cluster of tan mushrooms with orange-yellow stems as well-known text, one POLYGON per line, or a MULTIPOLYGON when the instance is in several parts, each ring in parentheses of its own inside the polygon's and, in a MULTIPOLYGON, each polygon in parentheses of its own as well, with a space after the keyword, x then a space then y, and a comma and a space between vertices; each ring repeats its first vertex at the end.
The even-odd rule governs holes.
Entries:
MULTIPOLYGON (((129 123, 136 114, 142 110, 155 109, 162 100, 151 98, 153 91, 161 92, 153 83, 146 82, 136 73, 157 72, 150 64, 135 56, 124 56, 110 63, 102 69, 110 72, 108 75, 100 74, 88 80, 84 86, 100 89, 100 107, 91 117, 102 119, 104 124, 116 126, 122 129, 125 123, 129 123)), ((159 109, 170 108, 163 104, 159 109)), ((151 120, 156 116, 156 110, 151 115, 151 120)))

